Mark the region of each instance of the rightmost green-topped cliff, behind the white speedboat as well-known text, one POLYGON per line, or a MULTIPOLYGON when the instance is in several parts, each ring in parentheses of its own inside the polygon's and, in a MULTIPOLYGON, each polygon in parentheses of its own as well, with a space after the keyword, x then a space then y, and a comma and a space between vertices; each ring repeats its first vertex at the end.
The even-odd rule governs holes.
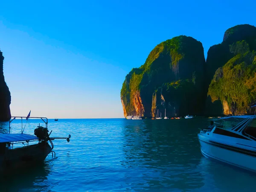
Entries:
MULTIPOLYGON (((210 47, 206 64, 208 102, 218 101, 217 110, 224 114, 250 113, 250 105, 256 102, 256 27, 227 29, 223 42, 210 47)), ((207 106, 214 111, 213 105, 207 106)))

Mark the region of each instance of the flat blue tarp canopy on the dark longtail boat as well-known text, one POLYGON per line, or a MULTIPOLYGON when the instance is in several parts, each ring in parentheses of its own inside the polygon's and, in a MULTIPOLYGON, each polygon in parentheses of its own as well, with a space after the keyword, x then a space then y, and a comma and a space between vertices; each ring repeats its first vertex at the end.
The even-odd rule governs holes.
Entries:
POLYGON ((38 137, 28 134, 0 134, 0 143, 38 140, 38 137))

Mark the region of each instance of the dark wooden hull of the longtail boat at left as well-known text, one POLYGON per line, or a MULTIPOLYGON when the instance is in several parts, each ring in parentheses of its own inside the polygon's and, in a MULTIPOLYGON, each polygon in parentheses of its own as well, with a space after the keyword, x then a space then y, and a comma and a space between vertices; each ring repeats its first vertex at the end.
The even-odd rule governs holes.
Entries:
POLYGON ((0 153, 0 172, 16 170, 43 162, 52 148, 47 142, 21 148, 8 149, 0 153))

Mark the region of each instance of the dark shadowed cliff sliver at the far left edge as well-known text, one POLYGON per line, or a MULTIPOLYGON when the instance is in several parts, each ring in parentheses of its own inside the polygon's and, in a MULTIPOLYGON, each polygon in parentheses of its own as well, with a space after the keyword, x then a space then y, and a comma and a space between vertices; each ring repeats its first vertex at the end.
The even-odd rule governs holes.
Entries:
POLYGON ((0 121, 8 121, 11 118, 11 93, 3 76, 3 59, 3 53, 0 51, 0 121))

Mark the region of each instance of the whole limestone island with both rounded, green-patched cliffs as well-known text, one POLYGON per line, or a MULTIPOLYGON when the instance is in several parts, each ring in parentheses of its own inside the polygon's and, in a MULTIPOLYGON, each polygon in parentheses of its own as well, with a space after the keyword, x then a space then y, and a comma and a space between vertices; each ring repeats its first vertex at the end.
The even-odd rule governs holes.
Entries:
POLYGON ((180 35, 158 44, 125 77, 124 116, 252 113, 256 102, 256 27, 237 25, 205 61, 200 41, 180 35))

